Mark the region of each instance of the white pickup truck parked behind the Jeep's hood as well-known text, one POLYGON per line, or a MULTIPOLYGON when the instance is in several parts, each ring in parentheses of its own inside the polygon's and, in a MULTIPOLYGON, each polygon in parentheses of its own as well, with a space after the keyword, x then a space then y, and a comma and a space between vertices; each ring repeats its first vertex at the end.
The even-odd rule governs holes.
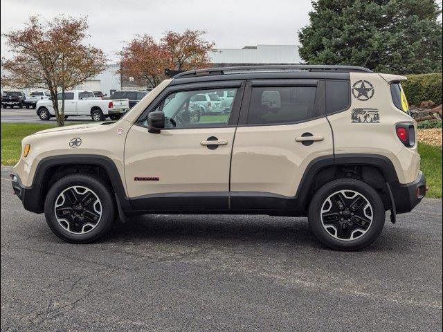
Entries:
MULTIPOLYGON (((62 93, 57 95, 59 109, 62 108, 62 93)), ((49 120, 55 116, 51 99, 39 100, 36 105, 40 120, 49 120)), ((129 110, 128 99, 102 100, 92 91, 71 90, 64 93, 64 117, 91 116, 93 121, 103 121, 109 117, 119 118, 129 110)))

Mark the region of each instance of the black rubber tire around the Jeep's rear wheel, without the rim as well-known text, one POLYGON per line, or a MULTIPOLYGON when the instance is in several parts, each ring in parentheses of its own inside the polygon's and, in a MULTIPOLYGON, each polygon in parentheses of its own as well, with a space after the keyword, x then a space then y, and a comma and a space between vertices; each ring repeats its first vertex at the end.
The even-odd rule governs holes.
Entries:
POLYGON ((359 250, 369 246, 370 243, 379 237, 379 234, 383 230, 385 218, 386 213, 379 194, 367 183, 352 178, 342 178, 327 183, 314 194, 311 204, 309 205, 309 226, 311 231, 314 232, 320 242, 336 250, 359 250), (359 239, 352 241, 335 239, 323 228, 320 218, 321 207, 329 195, 339 190, 354 190, 355 192, 359 192, 365 196, 370 205, 372 205, 372 224, 368 232, 363 234, 359 239))

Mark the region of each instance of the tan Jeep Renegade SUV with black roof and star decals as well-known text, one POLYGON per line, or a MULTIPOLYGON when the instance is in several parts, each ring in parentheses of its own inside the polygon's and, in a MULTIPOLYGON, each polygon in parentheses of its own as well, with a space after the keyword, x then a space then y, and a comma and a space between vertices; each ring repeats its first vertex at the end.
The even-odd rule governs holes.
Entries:
POLYGON ((73 243, 117 216, 271 214, 308 216, 320 242, 357 250, 426 192, 402 80, 351 66, 180 73, 117 122, 24 138, 12 187, 73 243), (196 95, 230 100, 203 113, 196 95))

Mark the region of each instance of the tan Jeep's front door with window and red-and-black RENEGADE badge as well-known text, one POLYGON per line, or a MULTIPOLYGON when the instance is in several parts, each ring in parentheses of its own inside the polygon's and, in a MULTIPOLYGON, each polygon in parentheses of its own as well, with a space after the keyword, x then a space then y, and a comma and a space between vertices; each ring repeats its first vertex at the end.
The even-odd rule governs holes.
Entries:
MULTIPOLYGON (((135 210, 226 210, 230 154, 242 98, 237 86, 172 86, 134 124, 125 145, 127 192, 135 210), (225 114, 204 114, 197 94, 235 90, 225 114), (165 129, 147 131, 147 113, 163 111, 165 129)), ((226 84, 225 84, 226 85, 226 84)))

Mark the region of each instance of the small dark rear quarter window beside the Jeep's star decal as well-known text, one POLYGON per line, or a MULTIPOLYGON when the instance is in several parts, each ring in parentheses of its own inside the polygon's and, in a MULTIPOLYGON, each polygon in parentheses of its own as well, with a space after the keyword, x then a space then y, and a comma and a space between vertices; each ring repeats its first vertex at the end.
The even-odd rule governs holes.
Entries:
POLYGON ((326 113, 345 111, 350 107, 351 87, 349 81, 326 81, 326 113))

